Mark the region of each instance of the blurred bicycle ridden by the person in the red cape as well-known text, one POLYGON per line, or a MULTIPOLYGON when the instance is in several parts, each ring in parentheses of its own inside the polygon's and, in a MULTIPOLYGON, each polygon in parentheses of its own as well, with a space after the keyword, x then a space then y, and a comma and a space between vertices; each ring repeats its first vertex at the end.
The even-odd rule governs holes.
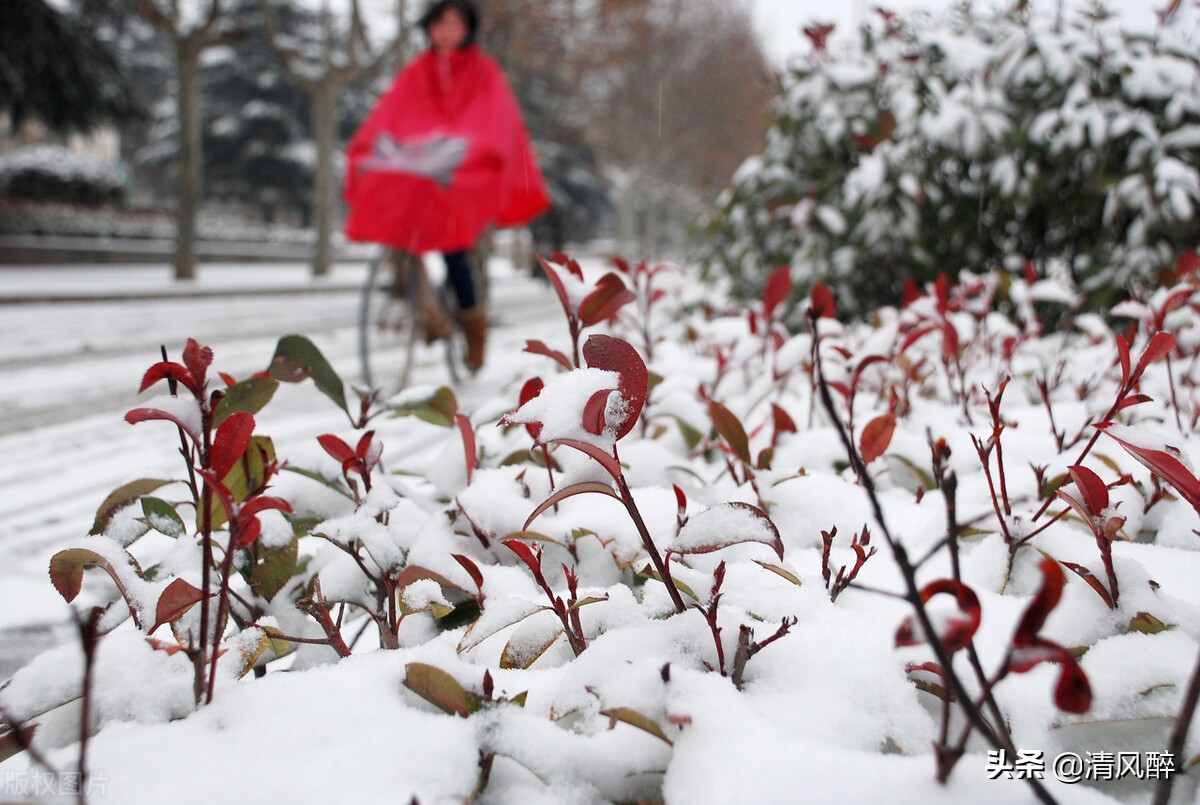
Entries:
MULTIPOLYGON (((480 304, 487 305, 487 256, 481 239, 472 256, 475 288, 480 304)), ((445 338, 427 342, 428 323, 421 305, 422 294, 437 299, 442 312, 455 320, 454 293, 444 283, 434 284, 426 258, 392 248, 382 248, 367 266, 359 301, 359 360, 362 380, 394 395, 408 386, 416 366, 444 362, 451 385, 468 376, 463 365, 462 332, 454 328, 445 338)))

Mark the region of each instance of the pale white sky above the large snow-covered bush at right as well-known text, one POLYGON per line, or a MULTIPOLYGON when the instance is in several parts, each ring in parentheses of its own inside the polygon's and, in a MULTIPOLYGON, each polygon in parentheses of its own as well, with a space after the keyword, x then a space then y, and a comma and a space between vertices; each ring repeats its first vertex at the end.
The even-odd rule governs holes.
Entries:
MULTIPOLYGON (((772 64, 787 64, 788 55, 800 50, 803 35, 800 29, 810 22, 827 22, 838 25, 839 31, 853 30, 858 20, 872 13, 876 6, 889 11, 914 8, 944 10, 953 0, 749 0, 754 12, 755 28, 763 37, 767 56, 772 64)), ((1006 0, 1003 5, 1010 5, 1006 0)), ((1088 5, 1084 0, 1067 0, 1073 6, 1088 5)), ((1130 26, 1152 28, 1154 10, 1166 6, 1169 0, 1108 0, 1106 6, 1121 13, 1130 26)), ((988 0, 977 0, 983 8, 988 0)), ((1057 0, 1033 0, 1034 8, 1052 12, 1057 0)), ((1190 5, 1188 4, 1184 4, 1190 5)), ((1195 19, 1195 12, 1192 12, 1195 19)))

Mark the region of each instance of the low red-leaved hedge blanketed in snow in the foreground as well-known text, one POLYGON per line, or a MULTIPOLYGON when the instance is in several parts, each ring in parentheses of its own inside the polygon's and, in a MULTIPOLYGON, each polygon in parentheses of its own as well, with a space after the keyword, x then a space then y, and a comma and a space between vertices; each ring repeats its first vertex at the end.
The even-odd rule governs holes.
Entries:
POLYGON ((6 779, 36 752, 120 801, 1195 798, 1200 256, 1114 311, 1133 335, 1044 334, 1034 300, 1075 300, 1000 272, 870 325, 818 284, 790 334, 786 270, 739 307, 544 265, 566 326, 526 323, 470 411, 352 395, 298 336, 241 380, 194 342, 154 364, 126 419, 186 469, 52 559, 86 650, 0 690, 6 779), (277 456, 260 411, 310 380, 338 432, 277 456))

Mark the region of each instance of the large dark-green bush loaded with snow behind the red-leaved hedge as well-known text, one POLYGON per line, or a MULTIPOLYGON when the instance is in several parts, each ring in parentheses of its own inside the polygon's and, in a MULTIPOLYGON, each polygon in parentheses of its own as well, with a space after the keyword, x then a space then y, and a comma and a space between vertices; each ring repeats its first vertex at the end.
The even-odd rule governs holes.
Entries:
POLYGON ((847 50, 808 32, 708 224, 709 269, 748 293, 793 265, 864 312, 1030 262, 1099 308, 1200 242, 1200 60, 1175 29, 959 7, 881 11, 847 50))

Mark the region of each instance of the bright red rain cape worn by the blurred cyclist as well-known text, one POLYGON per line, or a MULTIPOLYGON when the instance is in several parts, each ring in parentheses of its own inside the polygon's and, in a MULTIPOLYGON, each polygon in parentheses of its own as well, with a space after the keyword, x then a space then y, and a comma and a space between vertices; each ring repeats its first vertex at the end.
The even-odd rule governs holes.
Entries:
POLYGON ((474 46, 449 56, 449 76, 438 59, 426 50, 401 70, 350 139, 352 240, 457 251, 488 224, 518 226, 550 206, 499 65, 474 46))

